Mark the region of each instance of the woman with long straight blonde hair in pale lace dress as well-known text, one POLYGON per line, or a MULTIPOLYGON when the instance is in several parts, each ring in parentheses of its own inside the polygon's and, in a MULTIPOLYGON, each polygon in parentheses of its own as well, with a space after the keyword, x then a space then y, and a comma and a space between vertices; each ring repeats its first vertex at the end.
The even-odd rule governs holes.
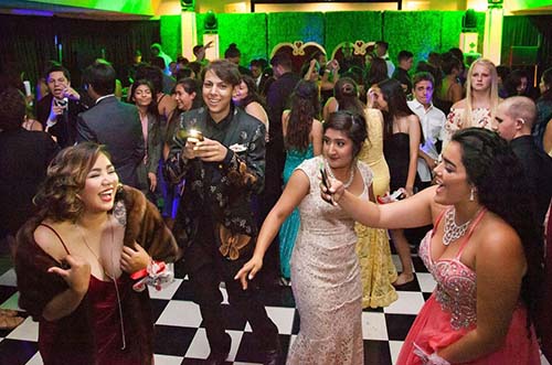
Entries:
POLYGON ((445 124, 445 147, 453 135, 469 127, 492 130, 492 118, 500 98, 495 64, 485 58, 474 61, 466 80, 466 97, 453 105, 445 124))

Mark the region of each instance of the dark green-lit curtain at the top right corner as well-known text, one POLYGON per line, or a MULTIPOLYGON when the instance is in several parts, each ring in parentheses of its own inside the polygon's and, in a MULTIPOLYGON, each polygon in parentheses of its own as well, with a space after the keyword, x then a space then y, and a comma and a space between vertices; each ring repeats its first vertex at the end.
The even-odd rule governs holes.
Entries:
POLYGON ((539 74, 552 67, 552 15, 505 17, 502 29, 502 64, 508 65, 511 46, 540 46, 539 74))

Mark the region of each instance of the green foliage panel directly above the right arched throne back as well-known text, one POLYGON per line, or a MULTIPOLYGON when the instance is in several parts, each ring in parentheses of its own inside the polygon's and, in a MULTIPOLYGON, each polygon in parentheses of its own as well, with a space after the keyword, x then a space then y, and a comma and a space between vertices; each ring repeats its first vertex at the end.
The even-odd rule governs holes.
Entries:
POLYGON ((381 11, 335 11, 326 13, 326 52, 346 41, 379 41, 382 37, 381 11))

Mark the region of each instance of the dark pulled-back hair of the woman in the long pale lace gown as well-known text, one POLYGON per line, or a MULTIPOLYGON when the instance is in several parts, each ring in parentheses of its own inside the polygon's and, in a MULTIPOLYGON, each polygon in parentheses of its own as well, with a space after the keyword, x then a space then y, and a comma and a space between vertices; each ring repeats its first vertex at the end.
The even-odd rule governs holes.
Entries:
POLYGON ((330 114, 328 120, 325 120, 323 132, 328 129, 342 131, 352 141, 352 157, 359 155, 362 144, 368 138, 367 120, 364 115, 358 115, 349 110, 338 110, 330 114))

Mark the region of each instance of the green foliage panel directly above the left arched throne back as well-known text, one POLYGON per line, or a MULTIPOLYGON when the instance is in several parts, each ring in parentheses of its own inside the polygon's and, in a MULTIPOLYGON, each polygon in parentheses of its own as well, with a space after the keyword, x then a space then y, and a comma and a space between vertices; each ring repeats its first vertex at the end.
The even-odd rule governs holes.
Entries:
POLYGON ((321 12, 279 12, 267 14, 267 56, 279 43, 302 41, 325 44, 321 12))

